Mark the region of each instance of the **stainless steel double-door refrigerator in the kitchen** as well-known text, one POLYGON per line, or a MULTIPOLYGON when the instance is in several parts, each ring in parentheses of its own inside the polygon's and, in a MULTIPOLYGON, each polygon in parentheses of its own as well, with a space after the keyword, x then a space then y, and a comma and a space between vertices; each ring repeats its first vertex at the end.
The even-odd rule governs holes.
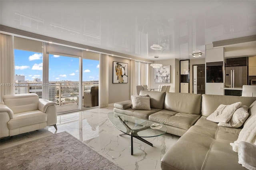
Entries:
POLYGON ((247 66, 225 67, 225 87, 242 88, 247 85, 247 66))

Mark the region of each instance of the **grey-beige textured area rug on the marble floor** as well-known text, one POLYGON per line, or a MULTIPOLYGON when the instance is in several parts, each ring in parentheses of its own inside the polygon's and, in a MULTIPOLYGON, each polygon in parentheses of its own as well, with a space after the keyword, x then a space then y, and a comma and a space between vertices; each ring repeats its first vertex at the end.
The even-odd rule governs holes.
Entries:
POLYGON ((0 150, 1 170, 122 170, 67 132, 0 150))

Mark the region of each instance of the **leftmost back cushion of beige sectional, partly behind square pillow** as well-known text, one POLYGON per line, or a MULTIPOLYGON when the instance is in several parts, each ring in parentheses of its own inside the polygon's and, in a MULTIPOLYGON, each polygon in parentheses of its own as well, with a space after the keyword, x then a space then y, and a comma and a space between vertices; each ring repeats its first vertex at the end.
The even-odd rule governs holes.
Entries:
POLYGON ((150 97, 150 108, 164 109, 165 91, 141 90, 140 95, 148 95, 150 97))

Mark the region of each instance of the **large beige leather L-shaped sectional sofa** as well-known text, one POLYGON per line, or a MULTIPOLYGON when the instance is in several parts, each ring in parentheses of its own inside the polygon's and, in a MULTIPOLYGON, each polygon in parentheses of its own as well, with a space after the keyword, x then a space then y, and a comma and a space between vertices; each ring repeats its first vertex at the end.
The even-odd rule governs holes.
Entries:
MULTIPOLYGON (((181 136, 161 159, 163 170, 245 169, 238 164, 238 153, 230 143, 238 139, 242 129, 220 127, 206 120, 219 105, 242 102, 249 107, 250 119, 256 115, 256 97, 196 95, 141 91, 150 97, 150 111, 131 109, 131 101, 114 104, 114 112, 160 122, 167 132, 181 136)), ((248 120, 247 119, 247 120, 248 120)), ((246 123, 245 123, 246 124, 246 123)))

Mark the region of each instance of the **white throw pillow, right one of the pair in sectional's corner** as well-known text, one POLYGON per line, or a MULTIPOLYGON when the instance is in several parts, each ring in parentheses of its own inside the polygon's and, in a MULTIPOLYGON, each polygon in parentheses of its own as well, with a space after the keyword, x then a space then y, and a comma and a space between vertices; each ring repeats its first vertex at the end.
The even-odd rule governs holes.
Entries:
POLYGON ((231 128, 239 128, 241 127, 246 119, 248 118, 248 106, 242 106, 236 109, 235 113, 233 114, 232 118, 228 123, 218 123, 218 126, 221 127, 231 127, 231 128))

